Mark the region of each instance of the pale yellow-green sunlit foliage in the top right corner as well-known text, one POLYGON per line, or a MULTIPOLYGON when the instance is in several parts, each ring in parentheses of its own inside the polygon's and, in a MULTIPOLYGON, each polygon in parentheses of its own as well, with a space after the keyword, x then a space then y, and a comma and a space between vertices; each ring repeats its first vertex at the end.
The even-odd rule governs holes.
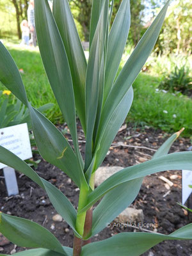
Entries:
POLYGON ((173 1, 168 10, 164 25, 156 44, 157 52, 163 54, 191 54, 192 46, 192 2, 191 0, 173 1))

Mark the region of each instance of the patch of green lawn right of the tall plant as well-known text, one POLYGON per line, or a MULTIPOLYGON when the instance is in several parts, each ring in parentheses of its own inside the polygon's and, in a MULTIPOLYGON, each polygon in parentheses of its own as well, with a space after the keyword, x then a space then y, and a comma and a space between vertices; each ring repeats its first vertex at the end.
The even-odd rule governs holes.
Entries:
POLYGON ((159 81, 158 77, 140 73, 133 84, 134 100, 127 121, 160 128, 166 132, 179 131, 185 127, 183 135, 191 136, 192 100, 181 94, 173 95, 160 90, 157 92, 159 81))

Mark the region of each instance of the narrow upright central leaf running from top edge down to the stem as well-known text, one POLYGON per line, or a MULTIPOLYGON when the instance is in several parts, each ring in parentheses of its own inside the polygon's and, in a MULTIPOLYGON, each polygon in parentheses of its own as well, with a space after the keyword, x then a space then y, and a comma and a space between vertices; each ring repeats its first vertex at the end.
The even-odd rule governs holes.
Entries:
POLYGON ((108 24, 108 0, 104 1, 100 12, 99 22, 93 37, 92 47, 88 60, 86 72, 86 158, 85 170, 92 161, 93 129, 97 115, 100 68, 102 56, 104 54, 104 44, 106 40, 106 29, 108 24))

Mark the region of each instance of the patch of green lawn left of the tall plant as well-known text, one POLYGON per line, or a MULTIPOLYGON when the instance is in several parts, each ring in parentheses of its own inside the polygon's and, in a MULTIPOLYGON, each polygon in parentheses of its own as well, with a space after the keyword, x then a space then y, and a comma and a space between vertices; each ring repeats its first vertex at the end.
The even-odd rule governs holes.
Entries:
MULTIPOLYGON (((19 44, 7 42, 5 42, 5 45, 10 54, 12 54, 17 67, 24 70, 24 74, 21 74, 21 76, 31 104, 38 108, 49 102, 54 103, 54 107, 46 113, 47 118, 54 124, 63 122, 60 108, 49 85, 38 49, 20 47, 19 44)), ((4 90, 2 84, 0 85, 0 90, 4 90)))

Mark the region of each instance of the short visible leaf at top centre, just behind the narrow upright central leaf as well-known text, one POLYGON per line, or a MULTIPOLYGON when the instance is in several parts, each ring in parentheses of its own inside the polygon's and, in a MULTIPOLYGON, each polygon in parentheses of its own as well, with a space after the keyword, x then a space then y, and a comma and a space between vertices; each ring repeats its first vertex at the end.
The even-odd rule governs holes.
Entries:
POLYGON ((92 3, 92 17, 90 22, 90 49, 92 46, 92 40, 95 35, 97 24, 99 22, 100 12, 105 1, 106 0, 93 0, 92 3))

